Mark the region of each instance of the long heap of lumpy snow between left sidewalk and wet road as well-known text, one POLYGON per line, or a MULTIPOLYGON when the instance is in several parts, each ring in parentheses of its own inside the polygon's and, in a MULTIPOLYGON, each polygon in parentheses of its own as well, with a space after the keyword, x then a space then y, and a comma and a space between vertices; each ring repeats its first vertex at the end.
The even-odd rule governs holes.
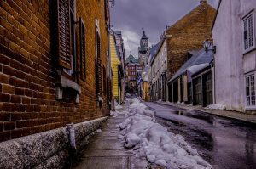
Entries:
POLYGON ((172 169, 212 168, 181 135, 168 132, 154 119, 154 112, 138 99, 128 100, 127 118, 119 124, 119 138, 125 148, 132 148, 148 161, 172 169))

